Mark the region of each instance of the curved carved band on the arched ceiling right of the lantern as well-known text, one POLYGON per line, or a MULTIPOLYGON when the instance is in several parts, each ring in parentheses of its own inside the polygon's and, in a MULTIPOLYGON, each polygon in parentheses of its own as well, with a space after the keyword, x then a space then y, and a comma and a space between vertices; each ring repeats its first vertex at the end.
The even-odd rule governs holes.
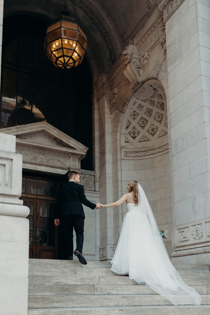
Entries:
POLYGON ((82 11, 93 21, 93 23, 95 24, 95 26, 99 30, 101 36, 104 38, 106 46, 107 46, 107 48, 109 50, 110 59, 114 63, 115 59, 116 59, 115 58, 114 48, 112 46, 111 40, 110 40, 110 38, 109 38, 109 36, 108 36, 104 26, 100 23, 100 21, 98 20, 96 15, 87 7, 86 4, 84 4, 80 0, 71 0, 71 1, 73 3, 75 3, 80 9, 82 9, 82 11))

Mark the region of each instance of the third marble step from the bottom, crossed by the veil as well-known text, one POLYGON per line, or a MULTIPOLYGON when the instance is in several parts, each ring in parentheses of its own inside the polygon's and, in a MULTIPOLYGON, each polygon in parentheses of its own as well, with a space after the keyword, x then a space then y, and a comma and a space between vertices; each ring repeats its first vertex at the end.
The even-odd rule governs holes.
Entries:
MULTIPOLYGON (((199 294, 210 294, 210 286, 192 286, 199 294)), ((29 295, 126 295, 156 294, 148 285, 100 285, 100 284, 29 284, 29 295)))

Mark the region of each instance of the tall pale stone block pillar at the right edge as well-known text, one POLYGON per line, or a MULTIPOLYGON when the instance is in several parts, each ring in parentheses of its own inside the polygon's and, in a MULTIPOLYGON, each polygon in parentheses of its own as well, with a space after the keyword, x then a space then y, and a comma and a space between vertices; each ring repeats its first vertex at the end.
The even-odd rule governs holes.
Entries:
POLYGON ((166 25, 176 264, 210 264, 210 3, 158 0, 166 25))

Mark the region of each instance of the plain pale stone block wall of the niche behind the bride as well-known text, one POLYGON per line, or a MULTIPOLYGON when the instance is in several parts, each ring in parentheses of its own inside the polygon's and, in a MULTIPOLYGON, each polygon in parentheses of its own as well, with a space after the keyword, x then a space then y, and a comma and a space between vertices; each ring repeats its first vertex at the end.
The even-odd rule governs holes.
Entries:
MULTIPOLYGON (((167 230, 168 238, 164 243, 170 256, 173 219, 169 153, 141 160, 122 160, 122 194, 127 192, 126 187, 130 179, 137 180, 142 186, 158 227, 167 230)), ((127 206, 123 204, 123 216, 126 213, 127 206)))

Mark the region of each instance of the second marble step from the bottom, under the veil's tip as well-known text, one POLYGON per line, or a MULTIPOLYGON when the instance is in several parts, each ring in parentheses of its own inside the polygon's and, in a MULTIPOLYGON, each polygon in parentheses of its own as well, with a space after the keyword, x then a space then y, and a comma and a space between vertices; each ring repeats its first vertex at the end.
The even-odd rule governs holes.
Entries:
MULTIPOLYGON (((203 305, 210 295, 201 295, 203 305)), ((172 305, 161 295, 29 295, 28 308, 172 305)))

